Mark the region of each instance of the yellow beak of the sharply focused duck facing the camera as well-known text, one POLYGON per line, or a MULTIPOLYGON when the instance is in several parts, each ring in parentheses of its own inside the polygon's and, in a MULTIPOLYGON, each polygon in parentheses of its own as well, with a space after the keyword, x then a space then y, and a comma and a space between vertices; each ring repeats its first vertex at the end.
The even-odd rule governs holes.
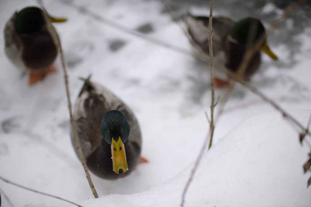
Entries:
POLYGON ((112 155, 112 166, 113 171, 118 174, 125 173, 128 171, 128 162, 126 161, 124 144, 119 137, 118 142, 111 141, 111 155, 112 155))

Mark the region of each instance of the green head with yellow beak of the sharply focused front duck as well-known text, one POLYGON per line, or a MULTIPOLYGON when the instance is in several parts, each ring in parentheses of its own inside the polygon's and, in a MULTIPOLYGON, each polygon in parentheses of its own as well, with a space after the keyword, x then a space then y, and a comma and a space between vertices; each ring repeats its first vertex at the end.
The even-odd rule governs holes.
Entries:
POLYGON ((101 122, 100 132, 111 145, 113 171, 118 174, 128 170, 124 142, 128 140, 130 125, 121 111, 108 111, 101 122))

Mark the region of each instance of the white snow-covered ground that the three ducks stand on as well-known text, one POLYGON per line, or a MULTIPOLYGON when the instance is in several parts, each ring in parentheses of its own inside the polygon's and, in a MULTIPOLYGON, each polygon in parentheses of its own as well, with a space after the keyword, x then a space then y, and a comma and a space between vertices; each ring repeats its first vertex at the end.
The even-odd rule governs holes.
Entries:
MULTIPOLYGON (((239 1, 215 2, 214 15, 258 16, 269 26, 283 10, 261 9, 239 1), (225 4, 227 3, 227 4, 225 4), (230 9, 229 9, 230 8, 230 9)), ((160 1, 75 1, 130 29, 190 50, 188 40, 160 1)), ((0 175, 83 206, 178 206, 183 186, 208 132, 207 66, 191 57, 124 34, 59 1, 44 1, 67 59, 72 101, 82 82, 110 88, 134 110, 143 135, 142 155, 150 160, 128 177, 107 181, 92 176, 100 196, 93 199, 69 138, 62 71, 27 86, 1 50, 0 175), (172 143, 174 140, 174 144, 172 143), (171 153, 173 150, 174 153, 171 153), (112 194, 112 195, 110 195, 112 194)), ((35 1, 0 2, 0 28, 16 10, 35 1)), ((199 14, 204 7, 189 7, 199 14)), ((306 125, 311 113, 311 20, 299 11, 269 38, 279 61, 263 56, 252 84, 306 125)), ((3 34, 0 34, 3 40, 3 34)), ((0 47, 4 42, 0 41, 0 47)), ((58 61, 59 69, 60 63, 58 61)), ((225 90, 217 90, 223 95, 225 90)), ((186 206, 311 205, 311 173, 302 165, 310 149, 300 146, 297 130, 256 95, 236 85, 216 125, 215 145, 207 152, 186 196, 186 206), (224 137, 224 138, 223 138, 224 137)), ((71 206, 0 181, 14 206, 71 206)), ((2 206, 10 206, 2 196, 2 206)))

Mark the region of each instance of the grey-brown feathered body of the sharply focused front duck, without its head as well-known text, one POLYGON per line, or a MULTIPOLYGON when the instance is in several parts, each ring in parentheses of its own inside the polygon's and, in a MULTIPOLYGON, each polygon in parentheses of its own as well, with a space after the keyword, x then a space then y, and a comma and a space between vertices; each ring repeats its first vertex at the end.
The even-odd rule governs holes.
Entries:
MULTIPOLYGON (((92 173, 101 178, 116 179, 128 175, 135 168, 142 146, 140 127, 132 110, 110 90, 86 80, 77 98, 73 118, 86 164, 92 173), (130 125, 130 134, 124 143, 129 170, 123 174, 113 172, 111 146, 100 132, 103 116, 110 110, 121 111, 130 125)), ((72 133, 71 139, 78 155, 72 133)))

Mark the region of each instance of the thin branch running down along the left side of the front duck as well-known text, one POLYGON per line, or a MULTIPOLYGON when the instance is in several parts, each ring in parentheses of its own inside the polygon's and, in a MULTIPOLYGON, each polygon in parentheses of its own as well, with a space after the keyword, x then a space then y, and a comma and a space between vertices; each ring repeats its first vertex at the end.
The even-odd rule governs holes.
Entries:
MULTIPOLYGON (((46 9, 44 8, 42 0, 37 0, 37 2, 43 8, 43 10, 45 12, 47 12, 46 9)), ((75 140, 75 144, 76 144, 76 148, 77 148, 77 151, 78 151, 79 159, 81 161, 81 164, 83 166, 84 172, 86 174, 86 178, 87 178, 87 181, 89 183, 89 186, 90 186, 90 188, 92 190, 92 193, 93 193, 94 197, 98 198, 97 191, 96 191, 96 189, 94 187, 94 184, 92 182, 89 170, 87 169, 86 161, 84 159, 83 152, 81 150, 80 141, 78 139, 76 122, 74 121, 73 115, 72 115, 72 104, 71 104, 71 100, 70 100, 69 81, 68 81, 68 74, 67 74, 67 69, 66 69, 66 64, 65 64, 65 62, 66 62, 65 61, 65 56, 64 56, 63 47, 62 47, 62 44, 61 44, 59 38, 58 38, 58 41, 59 41, 59 53, 60 53, 60 58, 61 58, 62 66, 63 66, 63 72, 64 72, 64 80, 65 80, 66 94, 67 94, 67 101, 68 101, 68 110, 69 110, 70 124, 71 124, 71 127, 72 127, 73 137, 74 137, 74 140, 75 140)))

